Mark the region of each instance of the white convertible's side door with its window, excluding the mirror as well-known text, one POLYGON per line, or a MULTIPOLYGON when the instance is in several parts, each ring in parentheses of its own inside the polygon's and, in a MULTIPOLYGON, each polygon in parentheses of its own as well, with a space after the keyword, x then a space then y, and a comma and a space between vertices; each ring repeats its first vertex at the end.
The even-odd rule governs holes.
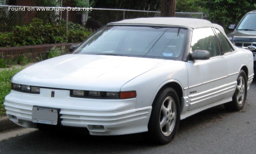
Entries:
POLYGON ((212 28, 193 30, 190 54, 195 50, 209 51, 210 59, 186 62, 189 111, 222 101, 228 86, 226 60, 212 28))

